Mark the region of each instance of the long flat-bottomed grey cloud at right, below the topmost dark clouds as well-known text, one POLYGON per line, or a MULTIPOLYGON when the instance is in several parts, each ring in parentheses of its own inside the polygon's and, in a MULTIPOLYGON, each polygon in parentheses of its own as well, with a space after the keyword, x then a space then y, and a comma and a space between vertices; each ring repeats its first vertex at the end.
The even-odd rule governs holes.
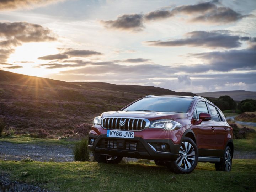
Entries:
POLYGON ((194 46, 208 48, 236 48, 241 46, 240 41, 247 41, 249 37, 231 35, 227 30, 219 31, 192 31, 186 33, 186 38, 170 41, 147 41, 150 46, 194 46))

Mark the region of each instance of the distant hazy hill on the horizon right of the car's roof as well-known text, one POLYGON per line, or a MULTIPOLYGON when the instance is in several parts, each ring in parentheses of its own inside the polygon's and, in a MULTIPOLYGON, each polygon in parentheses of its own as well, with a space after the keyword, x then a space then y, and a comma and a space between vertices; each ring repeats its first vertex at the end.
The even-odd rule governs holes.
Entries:
POLYGON ((233 98, 235 101, 242 101, 245 99, 256 99, 256 91, 216 91, 216 92, 204 92, 204 93, 196 93, 202 97, 215 97, 219 98, 222 95, 228 95, 233 98))

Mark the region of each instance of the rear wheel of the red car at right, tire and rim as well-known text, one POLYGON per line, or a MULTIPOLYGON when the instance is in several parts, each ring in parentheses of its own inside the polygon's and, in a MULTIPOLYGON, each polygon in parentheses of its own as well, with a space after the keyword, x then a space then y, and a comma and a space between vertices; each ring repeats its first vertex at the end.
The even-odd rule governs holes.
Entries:
POLYGON ((229 146, 226 147, 224 156, 221 162, 215 163, 216 171, 230 172, 232 167, 232 151, 229 146))

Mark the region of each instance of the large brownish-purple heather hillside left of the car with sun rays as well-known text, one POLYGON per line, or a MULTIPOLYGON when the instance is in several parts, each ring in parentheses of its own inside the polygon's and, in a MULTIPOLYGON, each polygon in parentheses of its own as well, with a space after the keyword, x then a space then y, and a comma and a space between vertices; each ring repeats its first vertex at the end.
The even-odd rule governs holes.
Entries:
POLYGON ((16 133, 71 134, 95 116, 146 95, 187 95, 153 86, 65 82, 0 70, 0 119, 16 133), (83 124, 83 125, 82 125, 83 124))

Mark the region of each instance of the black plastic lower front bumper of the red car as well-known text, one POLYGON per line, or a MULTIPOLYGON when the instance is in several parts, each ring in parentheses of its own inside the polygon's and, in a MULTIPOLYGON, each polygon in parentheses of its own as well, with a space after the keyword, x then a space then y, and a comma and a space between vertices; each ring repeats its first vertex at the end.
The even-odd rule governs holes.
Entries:
POLYGON ((89 133, 89 143, 91 138, 94 138, 95 142, 93 145, 89 144, 89 150, 102 155, 123 156, 151 160, 176 160, 180 150, 180 145, 175 145, 170 139, 145 140, 141 137, 124 139, 107 137, 106 134, 97 136, 89 133), (111 145, 109 142, 111 142, 111 145), (136 145, 134 145, 134 143, 136 143, 136 145), (168 146, 167 152, 158 151, 158 149, 153 146, 155 143, 165 143, 168 146), (129 147, 131 144, 132 149, 129 147))

